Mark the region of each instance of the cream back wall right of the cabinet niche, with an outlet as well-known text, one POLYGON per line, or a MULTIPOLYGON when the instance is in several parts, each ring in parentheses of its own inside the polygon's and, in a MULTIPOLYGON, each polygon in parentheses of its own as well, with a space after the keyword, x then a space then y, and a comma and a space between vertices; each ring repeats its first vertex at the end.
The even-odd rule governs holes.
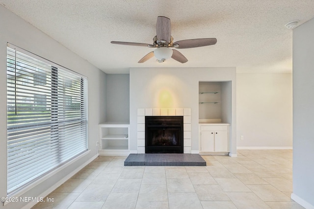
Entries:
POLYGON ((239 148, 292 147, 292 74, 236 74, 236 114, 239 148))

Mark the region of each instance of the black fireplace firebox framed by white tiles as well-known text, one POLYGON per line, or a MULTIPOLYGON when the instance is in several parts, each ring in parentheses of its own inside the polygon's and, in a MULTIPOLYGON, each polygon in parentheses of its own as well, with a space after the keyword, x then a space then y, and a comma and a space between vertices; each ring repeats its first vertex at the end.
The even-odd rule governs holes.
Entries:
POLYGON ((145 153, 183 153, 183 116, 145 116, 145 153))

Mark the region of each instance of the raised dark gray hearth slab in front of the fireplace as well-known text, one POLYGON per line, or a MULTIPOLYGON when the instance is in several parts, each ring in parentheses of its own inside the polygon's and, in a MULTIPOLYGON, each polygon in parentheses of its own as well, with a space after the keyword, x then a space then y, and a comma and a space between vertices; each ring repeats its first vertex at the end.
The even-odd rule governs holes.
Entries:
POLYGON ((125 166, 206 166, 199 154, 130 154, 125 166))

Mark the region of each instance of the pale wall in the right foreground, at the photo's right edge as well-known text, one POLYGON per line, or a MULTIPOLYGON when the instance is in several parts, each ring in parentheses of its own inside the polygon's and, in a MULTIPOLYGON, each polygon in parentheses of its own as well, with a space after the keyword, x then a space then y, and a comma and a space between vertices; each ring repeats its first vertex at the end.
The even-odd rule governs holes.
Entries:
POLYGON ((293 30, 293 193, 314 209, 314 19, 293 30))

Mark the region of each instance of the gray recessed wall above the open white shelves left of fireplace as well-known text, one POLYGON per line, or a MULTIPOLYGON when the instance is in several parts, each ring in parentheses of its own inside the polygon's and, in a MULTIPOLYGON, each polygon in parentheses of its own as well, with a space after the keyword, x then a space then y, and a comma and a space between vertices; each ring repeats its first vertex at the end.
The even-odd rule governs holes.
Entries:
POLYGON ((130 75, 107 74, 106 121, 130 121, 130 75))

